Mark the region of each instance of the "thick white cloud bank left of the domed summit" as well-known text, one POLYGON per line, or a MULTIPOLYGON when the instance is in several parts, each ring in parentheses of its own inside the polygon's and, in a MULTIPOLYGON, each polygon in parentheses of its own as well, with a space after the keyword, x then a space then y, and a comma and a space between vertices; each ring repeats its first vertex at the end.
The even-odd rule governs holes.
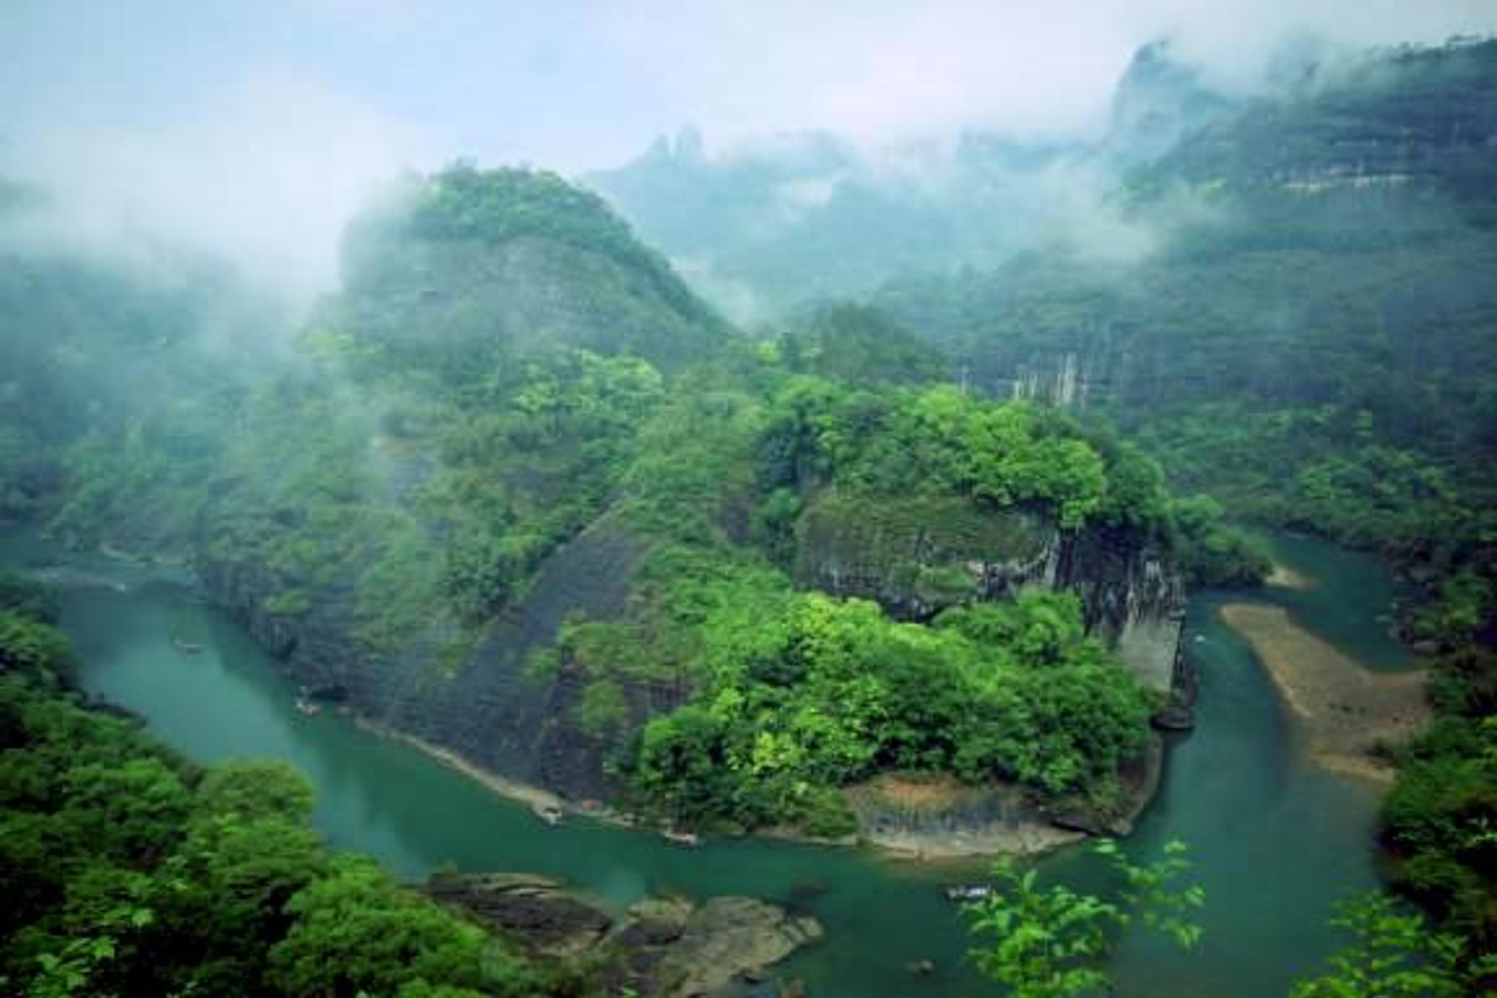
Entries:
POLYGON ((421 130, 328 85, 253 75, 169 127, 31 136, 3 171, 55 195, 46 245, 148 253, 205 248, 307 298, 329 287, 347 218, 403 168, 421 130))

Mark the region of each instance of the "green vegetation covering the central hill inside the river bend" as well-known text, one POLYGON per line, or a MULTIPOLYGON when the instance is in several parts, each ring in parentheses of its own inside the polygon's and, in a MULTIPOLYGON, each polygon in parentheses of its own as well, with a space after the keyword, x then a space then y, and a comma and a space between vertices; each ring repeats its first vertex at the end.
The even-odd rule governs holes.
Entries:
MULTIPOLYGON (((528 634, 554 648, 515 696, 663 820, 843 833, 837 790, 894 769, 1124 803, 1157 705, 1081 600, 1021 591, 1082 542, 1238 566, 1139 452, 943 385, 879 310, 748 344, 548 174, 409 178, 344 269, 251 376, 162 364, 159 395, 60 426, 49 527, 192 557, 277 651, 335 636, 317 688, 355 706, 388 705, 388 663, 443 696, 546 566, 615 539, 626 597, 528 634)), ((33 349, 91 343, 28 319, 33 349)))

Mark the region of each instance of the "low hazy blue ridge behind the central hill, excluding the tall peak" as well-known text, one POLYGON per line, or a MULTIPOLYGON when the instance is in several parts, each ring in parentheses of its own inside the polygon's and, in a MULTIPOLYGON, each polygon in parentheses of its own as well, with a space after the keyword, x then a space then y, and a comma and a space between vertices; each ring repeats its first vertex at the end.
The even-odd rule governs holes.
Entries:
POLYGON ((1088 209, 1096 184, 1070 145, 982 133, 876 151, 822 133, 714 159, 680 148, 662 139, 584 180, 744 320, 901 272, 996 263, 1088 209))

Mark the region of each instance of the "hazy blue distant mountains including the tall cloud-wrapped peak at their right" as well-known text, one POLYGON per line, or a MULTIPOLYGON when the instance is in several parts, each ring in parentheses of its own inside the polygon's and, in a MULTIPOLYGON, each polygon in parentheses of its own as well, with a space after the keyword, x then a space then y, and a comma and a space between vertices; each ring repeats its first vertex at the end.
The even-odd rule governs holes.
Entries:
POLYGON ((757 320, 898 275, 991 268, 1034 245, 1115 254, 1078 233, 1115 215, 1117 171, 1235 106, 1156 42, 1120 79, 1108 132, 1091 142, 969 130, 855 148, 813 132, 710 157, 687 129, 584 181, 704 295, 757 320))

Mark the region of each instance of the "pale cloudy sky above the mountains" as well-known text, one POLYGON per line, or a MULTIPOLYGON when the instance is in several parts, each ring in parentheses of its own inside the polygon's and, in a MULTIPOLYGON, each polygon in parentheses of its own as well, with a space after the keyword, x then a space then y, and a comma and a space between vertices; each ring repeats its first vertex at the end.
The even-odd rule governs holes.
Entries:
POLYGON ((708 150, 1096 130, 1171 34, 1248 90, 1290 31, 1497 30, 1497 0, 0 0, 0 172, 90 224, 154 226, 325 280, 403 168, 578 174, 693 123, 708 150))

